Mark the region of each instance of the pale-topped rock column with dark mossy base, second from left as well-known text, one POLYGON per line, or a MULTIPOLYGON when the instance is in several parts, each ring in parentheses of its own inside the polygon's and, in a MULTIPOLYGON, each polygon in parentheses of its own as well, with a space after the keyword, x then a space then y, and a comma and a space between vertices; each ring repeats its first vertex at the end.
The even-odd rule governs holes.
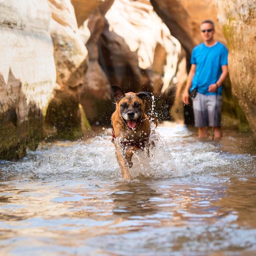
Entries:
POLYGON ((53 137, 73 139, 82 134, 79 103, 86 82, 88 52, 70 0, 48 0, 48 4, 52 10, 50 34, 60 89, 49 103, 46 130, 53 127, 53 137))

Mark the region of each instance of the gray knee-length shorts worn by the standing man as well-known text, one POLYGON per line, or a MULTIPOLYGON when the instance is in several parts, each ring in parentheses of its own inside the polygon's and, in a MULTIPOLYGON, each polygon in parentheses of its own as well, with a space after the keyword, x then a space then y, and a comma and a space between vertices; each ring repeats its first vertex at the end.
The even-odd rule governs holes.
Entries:
POLYGON ((221 108, 221 95, 217 95, 216 97, 216 95, 204 95, 198 92, 193 99, 195 127, 220 127, 221 108))

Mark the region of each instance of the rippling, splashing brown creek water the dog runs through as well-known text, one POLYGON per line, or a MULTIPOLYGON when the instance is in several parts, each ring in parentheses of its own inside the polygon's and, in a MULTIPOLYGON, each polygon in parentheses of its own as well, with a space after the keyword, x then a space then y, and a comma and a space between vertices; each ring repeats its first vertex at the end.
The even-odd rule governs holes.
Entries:
POLYGON ((256 142, 165 123, 122 180, 110 130, 0 162, 0 255, 256 255, 256 142))

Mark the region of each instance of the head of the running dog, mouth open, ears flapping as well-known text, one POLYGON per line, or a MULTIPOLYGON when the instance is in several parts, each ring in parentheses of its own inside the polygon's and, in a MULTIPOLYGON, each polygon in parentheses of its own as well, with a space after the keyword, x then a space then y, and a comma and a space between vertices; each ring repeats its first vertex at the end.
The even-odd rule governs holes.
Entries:
POLYGON ((112 86, 117 110, 129 129, 134 129, 145 111, 145 98, 152 97, 151 92, 128 92, 125 94, 118 86, 112 86))

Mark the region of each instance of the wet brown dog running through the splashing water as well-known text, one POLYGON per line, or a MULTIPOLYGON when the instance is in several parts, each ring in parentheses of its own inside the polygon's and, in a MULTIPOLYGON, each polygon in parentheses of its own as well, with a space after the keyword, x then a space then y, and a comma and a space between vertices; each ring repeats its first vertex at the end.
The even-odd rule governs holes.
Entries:
POLYGON ((112 114, 113 143, 123 178, 130 180, 128 167, 132 167, 135 150, 143 149, 148 143, 150 122, 145 111, 145 98, 152 97, 151 92, 124 93, 118 86, 112 86, 116 111, 112 114))

